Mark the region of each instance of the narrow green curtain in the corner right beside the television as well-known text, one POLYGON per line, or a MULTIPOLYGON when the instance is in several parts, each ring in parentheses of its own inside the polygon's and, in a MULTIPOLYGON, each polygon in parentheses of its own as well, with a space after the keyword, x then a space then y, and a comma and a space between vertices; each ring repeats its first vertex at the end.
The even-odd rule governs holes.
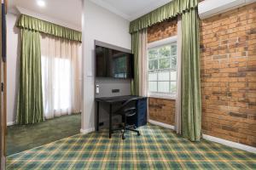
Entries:
POLYGON ((131 34, 131 52, 134 54, 134 77, 131 80, 131 94, 139 94, 139 71, 138 71, 138 56, 140 50, 140 31, 131 34))

